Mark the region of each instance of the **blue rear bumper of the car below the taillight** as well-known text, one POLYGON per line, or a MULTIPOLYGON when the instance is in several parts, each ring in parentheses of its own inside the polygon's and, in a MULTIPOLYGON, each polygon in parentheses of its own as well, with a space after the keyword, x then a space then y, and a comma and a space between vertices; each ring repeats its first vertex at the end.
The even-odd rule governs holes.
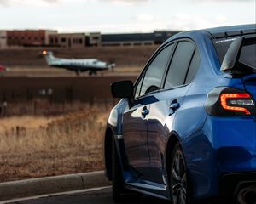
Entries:
POLYGON ((196 198, 236 195, 256 184, 256 122, 253 117, 207 116, 185 147, 196 198))

